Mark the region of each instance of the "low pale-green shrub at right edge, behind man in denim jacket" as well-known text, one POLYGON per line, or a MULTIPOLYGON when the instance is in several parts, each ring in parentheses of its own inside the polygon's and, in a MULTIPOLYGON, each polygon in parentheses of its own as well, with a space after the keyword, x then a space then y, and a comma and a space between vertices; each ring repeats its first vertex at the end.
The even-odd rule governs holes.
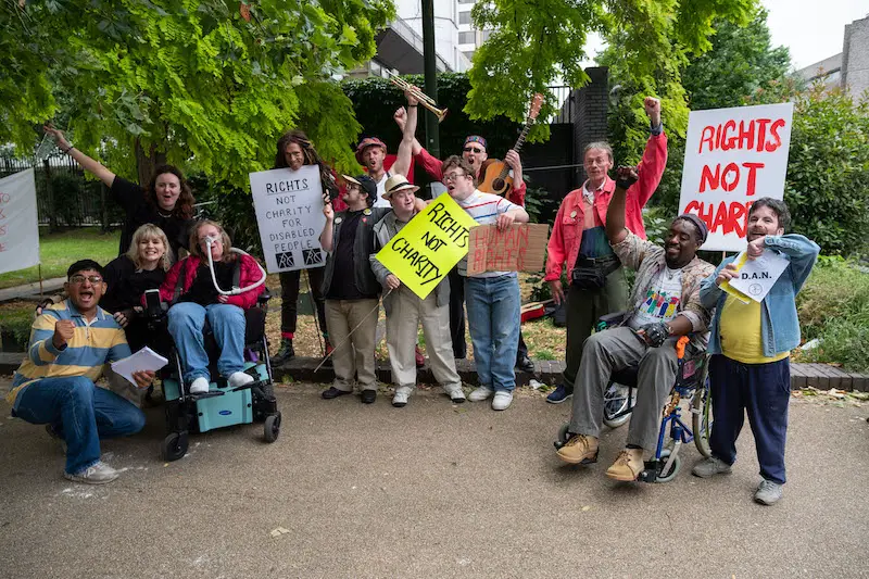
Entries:
POLYGON ((842 257, 821 257, 796 299, 803 338, 819 339, 805 360, 869 372, 869 273, 842 257))

